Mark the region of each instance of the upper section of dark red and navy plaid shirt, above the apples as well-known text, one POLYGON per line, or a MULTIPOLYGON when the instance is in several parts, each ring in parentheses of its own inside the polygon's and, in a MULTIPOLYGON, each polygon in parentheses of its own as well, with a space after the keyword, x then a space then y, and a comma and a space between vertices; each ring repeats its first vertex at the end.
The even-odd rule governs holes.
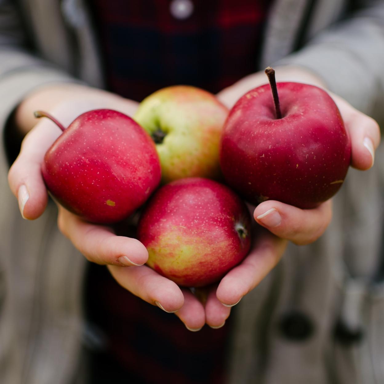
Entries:
POLYGON ((169 0, 93 0, 108 88, 137 101, 174 84, 212 93, 255 72, 271 1, 193 0, 178 20, 169 0))

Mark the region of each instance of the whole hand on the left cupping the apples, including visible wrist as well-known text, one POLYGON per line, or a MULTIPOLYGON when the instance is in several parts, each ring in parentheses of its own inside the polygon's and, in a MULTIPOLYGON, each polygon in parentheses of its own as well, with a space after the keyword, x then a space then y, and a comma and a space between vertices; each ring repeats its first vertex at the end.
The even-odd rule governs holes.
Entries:
MULTIPOLYGON (((8 181, 24 218, 36 219, 45 210, 48 194, 41 164, 47 149, 61 134, 49 119, 33 118, 33 112, 46 111, 68 126, 79 114, 98 108, 133 116, 137 103, 98 89, 65 84, 41 89, 20 104, 16 123, 22 132, 28 133, 9 171, 8 181)), ((204 325, 204 308, 189 290, 181 290, 173 281, 143 265, 148 252, 141 242, 117 236, 111 227, 85 222, 60 204, 58 227, 87 260, 107 265, 115 280, 131 293, 164 311, 177 311, 176 315, 189 329, 204 325)))

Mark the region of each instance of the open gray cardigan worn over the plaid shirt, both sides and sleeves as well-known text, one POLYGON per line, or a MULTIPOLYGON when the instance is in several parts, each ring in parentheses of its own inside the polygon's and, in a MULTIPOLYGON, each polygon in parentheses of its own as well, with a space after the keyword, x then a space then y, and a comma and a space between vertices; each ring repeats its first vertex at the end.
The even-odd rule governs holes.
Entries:
MULTIPOLYGON (((311 3, 275 0, 262 67, 304 66, 356 108, 382 119, 384 2, 351 2, 361 8, 346 17, 348 1, 318 0, 305 25, 311 3), (292 53, 305 26, 304 48, 292 53)), ((38 86, 78 79, 103 86, 98 47, 82 1, 58 4, 0 0, 2 127, 38 86), (24 48, 26 36, 34 55, 24 48)), ((324 236, 305 247, 290 245, 273 272, 240 302, 234 314, 230 382, 384 382, 384 286, 373 279, 383 233, 383 156, 380 148, 368 172, 349 171, 324 236), (309 332, 301 341, 289 321, 306 325, 309 332), (363 329, 362 339, 346 345, 345 329, 355 336, 363 329)), ((84 383, 85 258, 58 232, 53 205, 34 222, 20 217, 7 186, 3 151, 0 159, 0 382, 84 383)))

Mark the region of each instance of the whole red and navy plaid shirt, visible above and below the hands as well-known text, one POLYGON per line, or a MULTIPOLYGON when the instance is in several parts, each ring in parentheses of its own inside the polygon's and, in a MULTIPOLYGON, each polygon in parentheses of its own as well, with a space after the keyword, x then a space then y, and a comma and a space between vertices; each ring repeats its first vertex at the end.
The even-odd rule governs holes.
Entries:
MULTIPOLYGON (((217 93, 255 71, 270 2, 193 0, 184 20, 170 3, 89 1, 109 90, 137 101, 172 84, 217 93)), ((93 384, 225 382, 230 319, 221 329, 192 333, 96 265, 86 292, 88 317, 106 335, 106 350, 93 354, 93 384)))

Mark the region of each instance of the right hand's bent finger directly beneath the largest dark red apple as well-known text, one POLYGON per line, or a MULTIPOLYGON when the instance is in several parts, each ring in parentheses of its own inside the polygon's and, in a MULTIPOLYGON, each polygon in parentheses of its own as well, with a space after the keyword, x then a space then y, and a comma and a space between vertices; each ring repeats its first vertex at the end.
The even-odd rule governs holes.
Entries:
POLYGON ((276 236, 304 245, 317 240, 332 218, 328 200, 314 209, 300 209, 275 200, 259 204, 253 212, 256 222, 276 236))

